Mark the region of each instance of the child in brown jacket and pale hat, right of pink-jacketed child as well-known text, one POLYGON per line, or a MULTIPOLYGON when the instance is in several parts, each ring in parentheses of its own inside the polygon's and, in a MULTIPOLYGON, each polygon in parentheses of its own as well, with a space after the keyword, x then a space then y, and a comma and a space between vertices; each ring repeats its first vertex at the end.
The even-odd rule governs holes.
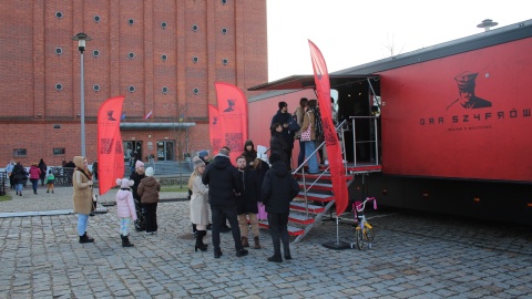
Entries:
POLYGON ((153 168, 146 168, 146 177, 139 184, 139 196, 144 208, 144 216, 146 221, 146 235, 157 234, 157 203, 158 192, 161 192, 161 184, 153 176, 153 168))

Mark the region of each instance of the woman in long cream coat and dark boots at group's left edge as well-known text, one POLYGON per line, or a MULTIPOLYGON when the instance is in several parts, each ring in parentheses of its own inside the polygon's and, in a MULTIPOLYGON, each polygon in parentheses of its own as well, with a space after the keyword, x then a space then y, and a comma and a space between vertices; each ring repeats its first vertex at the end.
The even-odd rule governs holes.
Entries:
POLYGON ((203 184, 202 176, 205 172, 205 162, 198 156, 193 158, 194 173, 188 179, 188 189, 191 195, 191 221, 196 225, 196 245, 197 249, 205 251, 207 245, 203 243, 203 237, 207 235, 208 225, 208 186, 203 184))

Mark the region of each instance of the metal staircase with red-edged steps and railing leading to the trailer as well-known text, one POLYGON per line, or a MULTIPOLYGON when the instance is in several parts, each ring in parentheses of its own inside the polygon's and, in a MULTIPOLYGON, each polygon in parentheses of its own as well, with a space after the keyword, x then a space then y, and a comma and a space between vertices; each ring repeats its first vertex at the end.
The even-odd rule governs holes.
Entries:
MULTIPOLYGON (((354 148, 356 151, 357 144, 372 144, 372 148, 375 152, 371 154, 375 157, 371 162, 359 162, 356 159, 356 152, 355 152, 355 161, 352 163, 347 163, 346 159, 346 146, 344 140, 340 138, 340 143, 342 145, 342 156, 344 156, 344 168, 346 171, 346 179, 347 186, 355 181, 355 175, 365 175, 368 173, 381 172, 381 166, 379 164, 379 153, 378 153, 378 131, 377 131, 377 120, 376 116, 362 116, 357 117, 354 116, 350 118, 352 122, 352 134, 354 134, 354 148), (375 128, 371 130, 372 134, 370 135, 371 138, 369 141, 357 141, 355 135, 355 121, 357 118, 367 118, 372 121, 375 124, 375 128)), ((337 132, 339 132, 340 136, 344 136, 344 128, 345 123, 344 121, 341 124, 337 126, 337 132)), ((325 146, 325 142, 317 146, 316 151, 310 155, 314 156, 318 153, 319 148, 325 146)), ((306 158, 303 165, 305 165, 310 157, 306 158)), ((294 198, 290 204, 290 214, 288 216, 288 234, 290 236, 296 237, 294 243, 300 241, 316 224, 321 223, 321 218, 327 216, 328 213, 331 213, 331 208, 335 204, 335 196, 332 193, 332 183, 331 176, 328 173, 329 166, 328 165, 319 165, 320 173, 319 174, 307 174, 305 167, 298 167, 293 172, 293 175, 299 182, 299 188, 301 192, 294 198)), ((259 221, 259 226, 262 228, 268 228, 267 221, 259 221)))

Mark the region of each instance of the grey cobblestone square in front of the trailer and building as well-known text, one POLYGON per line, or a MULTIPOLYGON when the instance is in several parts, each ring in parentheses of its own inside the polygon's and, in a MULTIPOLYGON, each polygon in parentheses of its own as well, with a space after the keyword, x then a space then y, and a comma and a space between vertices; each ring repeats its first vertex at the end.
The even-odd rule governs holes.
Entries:
MULTIPOLYGON (((0 298, 531 298, 532 229, 379 209, 371 249, 332 250, 332 221, 291 246, 291 261, 272 264, 272 240, 237 258, 222 235, 221 259, 194 252, 188 202, 162 202, 158 234, 133 231, 122 248, 115 207, 90 218, 94 244, 78 243, 70 187, 29 189, 0 202, 0 298), (21 212, 58 215, 12 217, 21 212), (47 213, 48 214, 48 213, 47 213)), ((182 197, 162 193, 163 198, 182 197)), ((114 192, 102 200, 113 200, 114 192)), ((345 215, 347 218, 348 215, 345 215)), ((352 228, 339 226, 340 239, 352 228)), ((207 236, 209 237, 209 235, 207 236)), ((211 243, 209 238, 207 238, 211 243)))

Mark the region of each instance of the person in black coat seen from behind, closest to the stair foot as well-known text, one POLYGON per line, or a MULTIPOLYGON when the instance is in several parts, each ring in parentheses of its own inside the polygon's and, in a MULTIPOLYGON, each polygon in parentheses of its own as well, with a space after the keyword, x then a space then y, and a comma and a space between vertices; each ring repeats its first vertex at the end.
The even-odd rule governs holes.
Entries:
POLYGON ((288 214, 290 202, 299 193, 299 185, 278 154, 269 156, 272 168, 266 173, 262 187, 262 198, 268 213, 268 226, 274 244, 274 255, 268 261, 282 262, 280 241, 285 259, 291 259, 288 241, 288 214))

